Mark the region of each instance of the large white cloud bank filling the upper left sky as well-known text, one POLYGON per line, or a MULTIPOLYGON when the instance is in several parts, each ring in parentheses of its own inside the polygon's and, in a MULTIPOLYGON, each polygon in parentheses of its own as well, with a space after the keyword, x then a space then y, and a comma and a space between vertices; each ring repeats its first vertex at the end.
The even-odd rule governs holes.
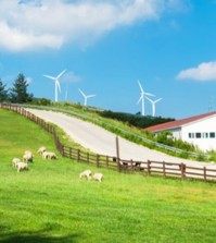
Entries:
POLYGON ((23 51, 88 46, 104 33, 152 21, 188 0, 0 0, 0 48, 23 51), (178 4, 177 4, 178 3, 178 4))

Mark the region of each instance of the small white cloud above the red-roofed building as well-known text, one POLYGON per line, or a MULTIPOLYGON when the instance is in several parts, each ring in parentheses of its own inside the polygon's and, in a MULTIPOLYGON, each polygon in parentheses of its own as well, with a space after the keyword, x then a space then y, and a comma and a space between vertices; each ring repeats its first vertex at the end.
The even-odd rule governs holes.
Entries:
POLYGON ((216 81, 216 61, 203 62, 196 68, 181 71, 177 78, 196 81, 216 81))

